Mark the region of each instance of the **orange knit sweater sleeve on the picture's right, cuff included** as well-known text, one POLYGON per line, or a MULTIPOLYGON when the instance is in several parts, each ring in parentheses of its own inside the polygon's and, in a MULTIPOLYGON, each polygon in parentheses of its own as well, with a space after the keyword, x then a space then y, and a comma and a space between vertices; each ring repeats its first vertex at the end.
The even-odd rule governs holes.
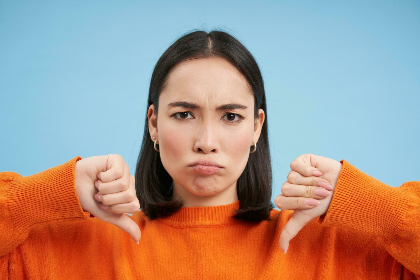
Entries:
POLYGON ((331 204, 318 222, 380 238, 388 253, 420 279, 420 181, 392 187, 340 162, 331 204))

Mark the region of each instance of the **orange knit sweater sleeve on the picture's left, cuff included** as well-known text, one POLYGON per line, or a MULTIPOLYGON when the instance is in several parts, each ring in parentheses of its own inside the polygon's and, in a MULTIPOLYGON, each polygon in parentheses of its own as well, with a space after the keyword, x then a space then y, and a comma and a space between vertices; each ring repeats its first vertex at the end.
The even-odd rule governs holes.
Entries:
POLYGON ((0 278, 8 253, 25 242, 31 228, 62 221, 95 218, 81 208, 75 188, 77 156, 40 173, 21 176, 0 172, 0 278))

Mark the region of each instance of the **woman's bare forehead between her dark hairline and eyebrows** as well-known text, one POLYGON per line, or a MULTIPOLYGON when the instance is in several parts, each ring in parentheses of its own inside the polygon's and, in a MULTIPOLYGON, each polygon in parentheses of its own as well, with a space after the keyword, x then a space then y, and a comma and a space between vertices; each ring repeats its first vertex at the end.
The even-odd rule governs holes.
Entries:
POLYGON ((250 102, 253 94, 244 76, 225 58, 198 58, 171 70, 160 98, 167 103, 186 99, 213 107, 223 101, 250 102))

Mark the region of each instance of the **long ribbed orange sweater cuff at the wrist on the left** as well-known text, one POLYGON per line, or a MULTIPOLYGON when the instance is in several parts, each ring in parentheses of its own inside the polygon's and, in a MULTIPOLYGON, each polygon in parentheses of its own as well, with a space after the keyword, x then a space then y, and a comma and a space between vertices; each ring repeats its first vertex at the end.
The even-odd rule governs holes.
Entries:
POLYGON ((83 211, 75 185, 77 156, 62 165, 11 181, 7 201, 16 228, 94 218, 83 211))

